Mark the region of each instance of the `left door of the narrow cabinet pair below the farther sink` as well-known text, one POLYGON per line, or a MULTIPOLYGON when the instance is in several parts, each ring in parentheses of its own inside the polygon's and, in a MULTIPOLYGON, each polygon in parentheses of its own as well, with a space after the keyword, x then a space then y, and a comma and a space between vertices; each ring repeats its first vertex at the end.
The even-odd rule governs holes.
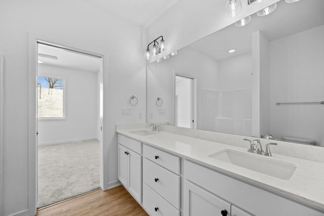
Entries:
POLYGON ((124 146, 118 144, 118 180, 126 188, 128 188, 128 173, 129 173, 129 161, 128 154, 129 150, 124 146))

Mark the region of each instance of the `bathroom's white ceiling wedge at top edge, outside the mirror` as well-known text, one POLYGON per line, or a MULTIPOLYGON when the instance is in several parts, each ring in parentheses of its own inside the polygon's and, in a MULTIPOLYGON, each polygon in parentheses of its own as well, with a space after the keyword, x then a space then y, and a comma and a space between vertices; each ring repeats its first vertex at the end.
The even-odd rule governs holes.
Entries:
POLYGON ((178 0, 84 0, 129 22, 150 26, 178 0))

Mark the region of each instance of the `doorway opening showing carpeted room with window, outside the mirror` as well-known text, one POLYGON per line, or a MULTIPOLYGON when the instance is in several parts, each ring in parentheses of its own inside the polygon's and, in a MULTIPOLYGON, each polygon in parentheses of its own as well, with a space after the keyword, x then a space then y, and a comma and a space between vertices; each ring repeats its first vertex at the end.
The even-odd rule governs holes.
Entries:
POLYGON ((37 208, 100 188, 102 56, 37 41, 37 208))

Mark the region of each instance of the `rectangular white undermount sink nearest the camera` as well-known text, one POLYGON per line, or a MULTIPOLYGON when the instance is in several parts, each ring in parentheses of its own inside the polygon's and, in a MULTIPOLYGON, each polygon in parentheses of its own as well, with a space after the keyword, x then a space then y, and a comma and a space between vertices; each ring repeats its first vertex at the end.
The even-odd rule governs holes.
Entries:
POLYGON ((208 157, 283 180, 290 180, 297 168, 297 165, 293 163, 279 161, 264 155, 239 152, 230 149, 216 152, 208 155, 208 157))

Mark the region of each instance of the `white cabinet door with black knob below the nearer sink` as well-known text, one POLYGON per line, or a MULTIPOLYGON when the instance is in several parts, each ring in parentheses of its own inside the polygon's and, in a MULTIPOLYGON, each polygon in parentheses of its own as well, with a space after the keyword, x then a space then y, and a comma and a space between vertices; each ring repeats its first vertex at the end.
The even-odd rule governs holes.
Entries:
POLYGON ((184 181, 184 216, 231 215, 231 204, 214 194, 184 181), (223 211, 223 214, 221 213, 223 211), (227 212, 224 213, 224 212, 227 212))

